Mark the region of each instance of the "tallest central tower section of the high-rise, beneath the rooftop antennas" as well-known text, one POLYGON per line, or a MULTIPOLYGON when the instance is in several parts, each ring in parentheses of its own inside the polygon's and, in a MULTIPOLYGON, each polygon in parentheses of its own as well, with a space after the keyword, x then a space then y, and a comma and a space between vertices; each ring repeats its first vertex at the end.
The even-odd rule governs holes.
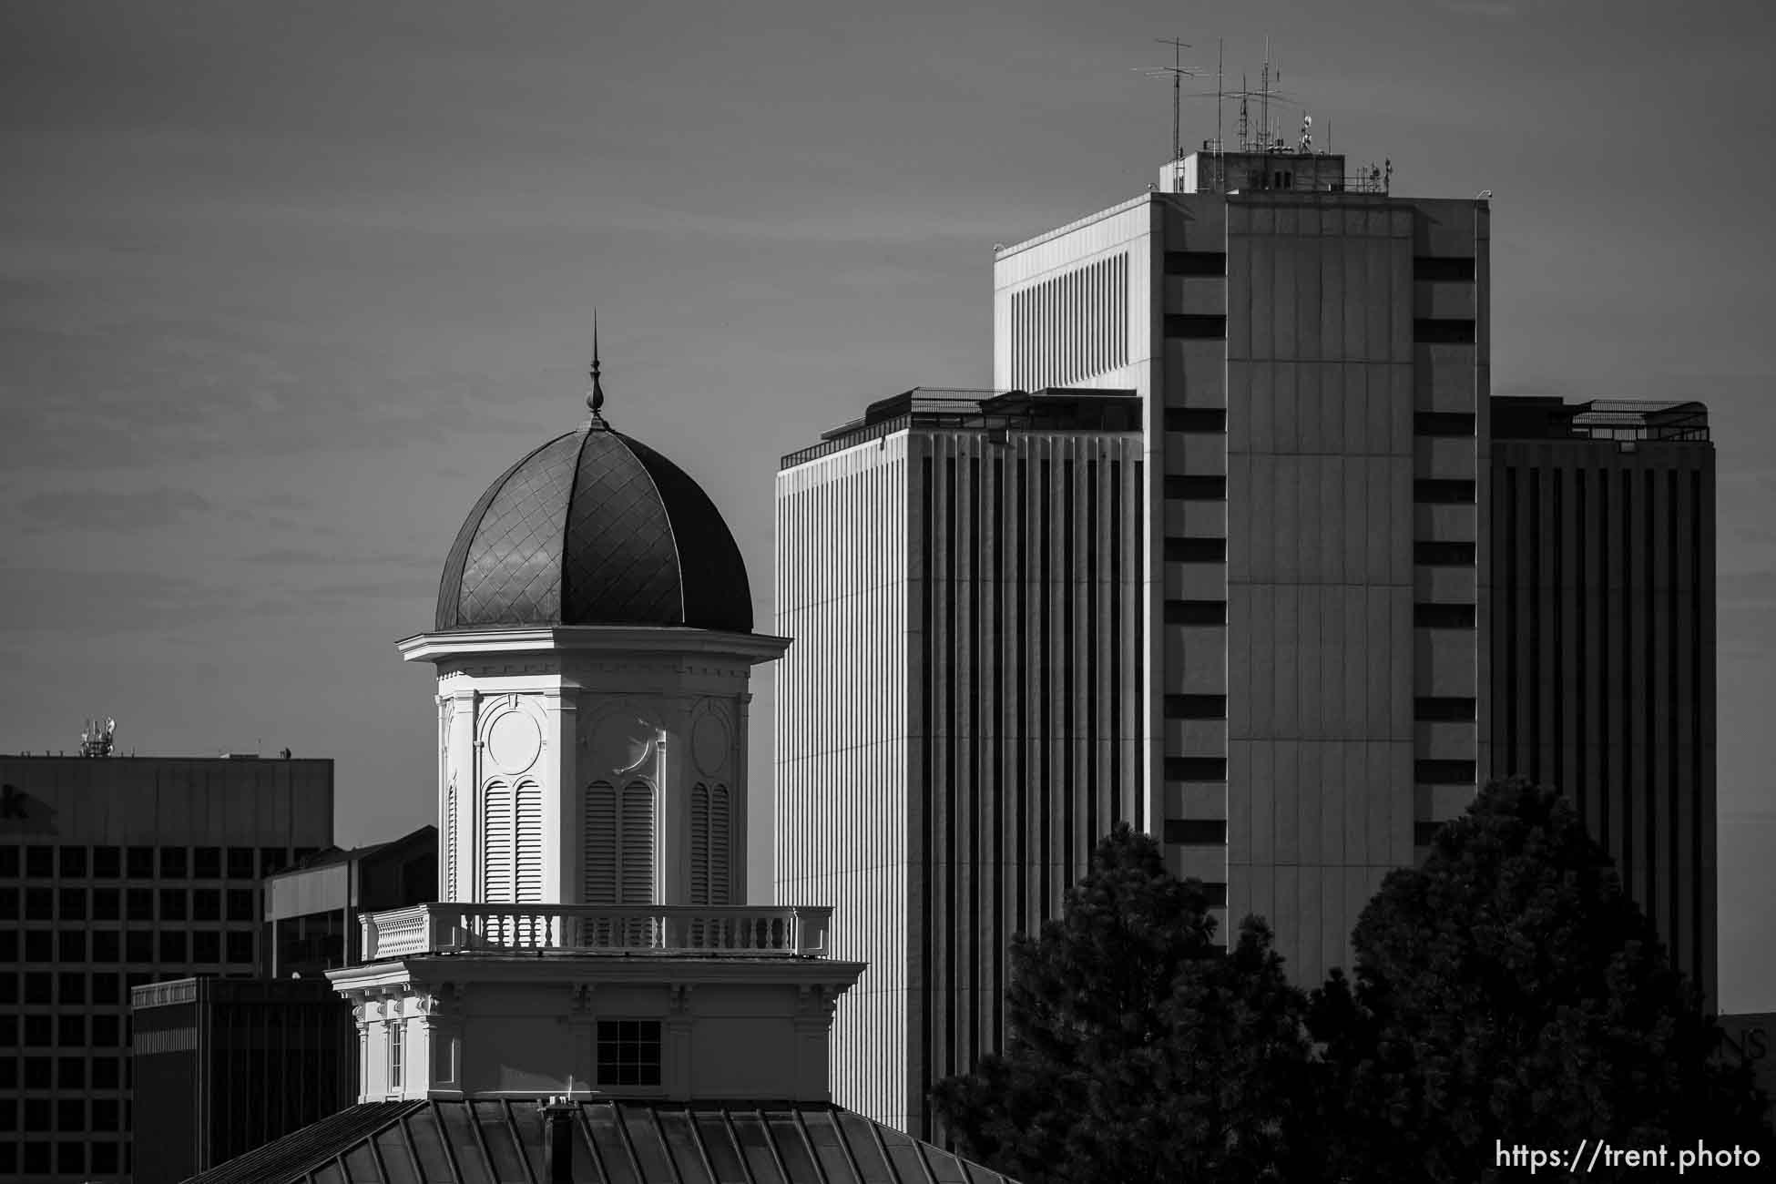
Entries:
POLYGON ((1000 250, 993 373, 1140 398, 1138 817, 1311 983, 1485 769, 1488 206, 1245 149, 1000 250))

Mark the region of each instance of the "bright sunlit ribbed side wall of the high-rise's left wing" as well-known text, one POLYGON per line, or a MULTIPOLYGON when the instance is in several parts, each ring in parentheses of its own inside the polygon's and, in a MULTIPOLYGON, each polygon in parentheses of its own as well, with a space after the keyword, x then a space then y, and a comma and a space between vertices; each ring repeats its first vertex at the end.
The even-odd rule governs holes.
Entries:
POLYGON ((833 907, 833 955, 867 962, 835 1017, 833 1099, 906 1129, 920 1046, 908 998, 918 873, 909 824, 920 651, 906 433, 776 479, 774 896, 833 907))

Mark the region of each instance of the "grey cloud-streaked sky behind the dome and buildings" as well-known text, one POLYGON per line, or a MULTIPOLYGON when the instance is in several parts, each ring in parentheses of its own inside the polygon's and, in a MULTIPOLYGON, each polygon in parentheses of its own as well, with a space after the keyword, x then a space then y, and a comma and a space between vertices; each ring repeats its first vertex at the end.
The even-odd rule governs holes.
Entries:
POLYGON ((584 417, 593 307, 607 417, 709 490, 769 621, 780 454, 991 385, 995 243, 1158 178, 1154 39, 1213 94, 1268 37, 1288 122, 1494 192, 1495 394, 1709 405, 1721 1003, 1776 1010, 1772 34, 1737 0, 0 0, 0 751, 112 715, 123 751, 332 756, 345 845, 432 820, 394 641, 584 417))

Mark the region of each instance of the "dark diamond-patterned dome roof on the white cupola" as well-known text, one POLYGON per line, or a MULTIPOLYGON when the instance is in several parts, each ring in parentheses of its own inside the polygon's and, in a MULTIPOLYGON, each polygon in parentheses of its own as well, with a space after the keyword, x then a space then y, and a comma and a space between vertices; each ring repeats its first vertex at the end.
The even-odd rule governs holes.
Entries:
POLYGON ((593 421, 508 469, 456 533, 437 628, 501 625, 751 632, 753 595, 696 481, 593 421))

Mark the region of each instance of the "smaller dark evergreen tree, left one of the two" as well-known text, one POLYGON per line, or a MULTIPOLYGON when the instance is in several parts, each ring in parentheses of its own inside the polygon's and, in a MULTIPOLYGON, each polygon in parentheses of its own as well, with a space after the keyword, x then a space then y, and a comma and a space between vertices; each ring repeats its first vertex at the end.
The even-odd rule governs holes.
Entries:
POLYGON ((1202 888, 1117 827, 1064 914, 1012 946, 1007 1047, 932 1102, 964 1154, 1025 1184, 1259 1180, 1300 1152, 1305 998, 1249 920, 1213 944, 1202 888))

